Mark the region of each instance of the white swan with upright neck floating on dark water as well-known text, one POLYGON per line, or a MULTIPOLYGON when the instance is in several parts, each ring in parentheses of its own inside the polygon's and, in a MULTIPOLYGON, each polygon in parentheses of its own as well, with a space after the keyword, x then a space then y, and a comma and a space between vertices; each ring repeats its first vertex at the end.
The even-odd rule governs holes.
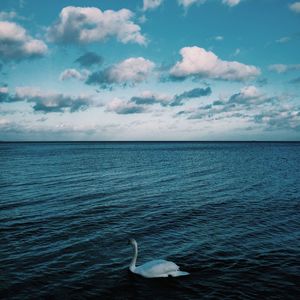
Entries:
POLYGON ((138 247, 135 239, 130 239, 129 243, 134 249, 134 256, 132 258, 129 270, 132 273, 141 275, 146 278, 157 278, 157 277, 177 277, 189 275, 188 272, 183 272, 179 270, 179 267, 172 261, 167 261, 163 259, 151 260, 141 266, 136 267, 136 260, 138 255, 138 247))

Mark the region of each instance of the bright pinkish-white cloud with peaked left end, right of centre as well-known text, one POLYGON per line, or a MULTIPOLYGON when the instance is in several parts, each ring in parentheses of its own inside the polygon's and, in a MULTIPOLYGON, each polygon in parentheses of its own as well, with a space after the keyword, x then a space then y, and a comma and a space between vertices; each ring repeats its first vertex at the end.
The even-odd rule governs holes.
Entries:
POLYGON ((246 80, 260 74, 260 70, 255 66, 221 60, 213 52, 196 46, 182 48, 180 54, 182 60, 170 70, 172 77, 200 76, 224 80, 246 80))

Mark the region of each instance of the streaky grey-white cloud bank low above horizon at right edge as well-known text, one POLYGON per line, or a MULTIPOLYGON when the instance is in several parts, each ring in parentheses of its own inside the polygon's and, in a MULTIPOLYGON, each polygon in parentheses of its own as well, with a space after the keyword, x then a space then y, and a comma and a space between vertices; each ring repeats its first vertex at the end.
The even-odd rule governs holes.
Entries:
POLYGON ((286 100, 285 95, 270 97, 255 86, 245 86, 227 100, 213 101, 196 111, 180 111, 177 116, 212 121, 240 119, 251 126, 262 125, 260 128, 267 131, 300 131, 300 106, 286 100))

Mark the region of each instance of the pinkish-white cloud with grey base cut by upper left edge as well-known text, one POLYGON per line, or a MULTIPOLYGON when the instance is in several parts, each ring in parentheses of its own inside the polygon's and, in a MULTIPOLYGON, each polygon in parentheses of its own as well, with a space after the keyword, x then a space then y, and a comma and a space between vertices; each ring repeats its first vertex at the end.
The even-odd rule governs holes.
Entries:
POLYGON ((14 22, 0 22, 0 59, 22 60, 44 56, 47 45, 32 38, 26 30, 14 22))

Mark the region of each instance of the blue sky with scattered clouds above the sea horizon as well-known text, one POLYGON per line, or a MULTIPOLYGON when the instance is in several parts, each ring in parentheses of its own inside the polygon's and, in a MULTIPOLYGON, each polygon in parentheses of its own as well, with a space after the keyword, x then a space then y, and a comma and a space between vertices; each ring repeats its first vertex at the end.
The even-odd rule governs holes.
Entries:
POLYGON ((2 141, 300 140, 300 2, 1 0, 2 141))

